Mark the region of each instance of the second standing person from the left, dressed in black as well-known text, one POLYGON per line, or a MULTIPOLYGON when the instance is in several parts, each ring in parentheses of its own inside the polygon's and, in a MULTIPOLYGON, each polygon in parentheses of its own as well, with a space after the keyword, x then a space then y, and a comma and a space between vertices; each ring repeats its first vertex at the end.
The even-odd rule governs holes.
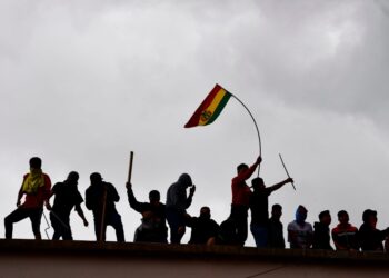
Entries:
POLYGON ((78 185, 79 175, 76 171, 72 171, 68 175, 68 178, 63 182, 57 182, 50 192, 50 197, 56 196, 54 203, 51 207, 47 202, 47 208, 51 210, 50 221, 51 226, 54 229, 52 239, 58 240, 62 237, 63 240, 72 240, 70 228, 70 212, 76 208, 77 214, 83 221, 83 225, 87 227, 88 221, 83 215, 81 203, 83 199, 79 192, 78 185))

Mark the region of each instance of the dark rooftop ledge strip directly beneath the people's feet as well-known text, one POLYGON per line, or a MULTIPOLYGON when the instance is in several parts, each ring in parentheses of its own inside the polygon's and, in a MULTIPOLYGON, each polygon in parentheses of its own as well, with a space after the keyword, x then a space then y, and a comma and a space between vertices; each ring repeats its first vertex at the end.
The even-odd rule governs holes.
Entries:
POLYGON ((18 256, 109 256, 159 259, 222 259, 299 264, 380 265, 389 267, 389 254, 300 249, 259 249, 236 246, 166 245, 96 241, 0 239, 0 257, 18 256))

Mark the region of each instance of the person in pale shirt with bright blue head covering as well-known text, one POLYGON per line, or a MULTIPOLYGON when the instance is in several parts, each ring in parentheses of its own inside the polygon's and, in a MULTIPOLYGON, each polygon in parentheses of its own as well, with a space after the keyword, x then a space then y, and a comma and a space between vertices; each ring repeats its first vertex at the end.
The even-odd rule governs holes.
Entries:
POLYGON ((308 210, 299 206, 296 210, 296 219, 288 225, 288 241, 291 249, 308 249, 312 245, 313 229, 306 222, 308 210))

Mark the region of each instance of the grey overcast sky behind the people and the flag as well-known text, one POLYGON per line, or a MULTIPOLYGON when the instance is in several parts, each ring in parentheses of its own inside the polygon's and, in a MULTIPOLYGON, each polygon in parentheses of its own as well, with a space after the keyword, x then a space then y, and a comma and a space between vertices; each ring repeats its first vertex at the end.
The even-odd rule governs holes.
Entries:
MULTIPOLYGON (((359 227, 371 208, 385 228, 388 30, 383 0, 2 0, 1 218, 16 208, 29 158, 39 156, 53 182, 79 171, 82 195, 93 171, 112 182, 132 241, 141 217, 124 183, 134 151, 139 200, 158 189, 164 201, 188 172, 197 185, 188 212, 209 206, 221 222, 236 166, 256 160, 258 138, 235 99, 212 125, 183 128, 218 82, 257 119, 266 183, 286 178, 279 152, 295 178, 297 191, 288 185, 269 199, 283 206, 285 227, 301 203, 310 222, 330 209, 335 226, 346 209, 359 227)), ((42 219, 42 236, 46 227, 42 219)), ((72 228, 74 239, 94 240, 74 212, 72 228)), ((14 226, 14 237, 33 238, 29 220, 14 226)), ((108 238, 114 240, 111 228, 108 238)))

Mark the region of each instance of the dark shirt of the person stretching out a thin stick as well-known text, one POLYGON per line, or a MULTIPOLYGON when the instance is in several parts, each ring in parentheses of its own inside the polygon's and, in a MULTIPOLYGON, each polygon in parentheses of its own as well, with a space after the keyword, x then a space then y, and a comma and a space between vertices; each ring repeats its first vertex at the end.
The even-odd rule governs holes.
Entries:
POLYGON ((269 205, 268 197, 271 193, 269 188, 263 188, 252 192, 250 198, 251 225, 268 225, 269 205))

